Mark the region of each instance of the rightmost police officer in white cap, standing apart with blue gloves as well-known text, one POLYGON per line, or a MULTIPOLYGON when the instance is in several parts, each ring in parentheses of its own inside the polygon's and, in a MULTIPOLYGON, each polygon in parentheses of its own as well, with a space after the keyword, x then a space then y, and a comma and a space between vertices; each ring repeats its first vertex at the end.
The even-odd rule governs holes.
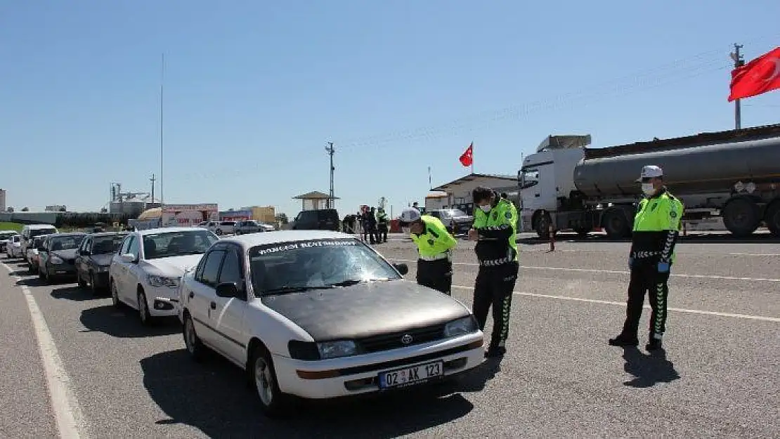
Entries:
POLYGON ((666 299, 669 269, 675 260, 675 244, 679 236, 683 203, 664 186, 664 172, 658 166, 642 168, 640 179, 645 198, 640 201, 634 217, 631 250, 629 251, 628 303, 623 330, 609 340, 613 346, 639 345, 637 332, 642 317, 644 295, 652 307, 650 336, 645 348, 661 348, 666 325, 666 299))

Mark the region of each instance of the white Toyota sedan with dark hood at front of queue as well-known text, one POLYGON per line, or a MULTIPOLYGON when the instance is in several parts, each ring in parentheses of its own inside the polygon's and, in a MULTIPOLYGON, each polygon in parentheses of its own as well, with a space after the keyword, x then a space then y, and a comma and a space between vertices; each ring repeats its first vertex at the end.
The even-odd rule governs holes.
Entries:
POLYGON ((385 391, 480 365, 470 310, 407 271, 340 232, 223 238, 182 278, 184 342, 195 359, 208 349, 246 370, 270 416, 291 395, 385 391))

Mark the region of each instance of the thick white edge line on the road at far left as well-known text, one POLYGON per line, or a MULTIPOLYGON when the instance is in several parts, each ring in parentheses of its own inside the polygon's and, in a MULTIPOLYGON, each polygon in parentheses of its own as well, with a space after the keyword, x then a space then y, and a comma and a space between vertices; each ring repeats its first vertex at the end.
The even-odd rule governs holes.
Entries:
MULTIPOLYGON (((13 269, 4 263, 5 270, 13 273, 13 269)), ((20 276, 13 276, 16 281, 21 281, 20 276)), ((46 384, 48 386, 51 408, 54 410, 55 420, 59 437, 66 439, 80 439, 87 435, 86 423, 81 412, 76 392, 73 391, 73 385, 62 365, 62 358, 57 352, 54 338, 51 336, 46 319, 41 308, 35 302, 33 293, 27 288, 27 285, 20 285, 24 293, 24 299, 27 300, 27 308, 30 310, 30 317, 33 320, 35 338, 38 342, 38 352, 41 354, 41 361, 44 363, 44 373, 46 375, 46 384)))

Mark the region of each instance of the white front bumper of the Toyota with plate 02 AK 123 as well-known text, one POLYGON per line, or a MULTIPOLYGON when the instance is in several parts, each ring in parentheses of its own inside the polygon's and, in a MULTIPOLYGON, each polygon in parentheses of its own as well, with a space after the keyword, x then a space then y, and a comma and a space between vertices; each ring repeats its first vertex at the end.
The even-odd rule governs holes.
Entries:
MULTIPOLYGON (((448 340, 409 348, 320 361, 303 361, 274 354, 279 388, 301 398, 324 399, 365 395, 384 391, 379 387, 381 372, 444 361, 444 375, 431 381, 461 374, 484 362, 482 331, 448 340)), ((413 384, 427 384, 422 381, 413 384)), ((392 391, 395 389, 388 389, 392 391)))

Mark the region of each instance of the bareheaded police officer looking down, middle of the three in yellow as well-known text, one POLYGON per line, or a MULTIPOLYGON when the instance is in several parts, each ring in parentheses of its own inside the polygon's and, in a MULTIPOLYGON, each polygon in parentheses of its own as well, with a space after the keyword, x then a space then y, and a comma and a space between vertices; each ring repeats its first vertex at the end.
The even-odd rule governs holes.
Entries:
POLYGON ((474 285, 473 313, 480 329, 493 307, 493 334, 485 356, 503 356, 509 335, 509 310, 519 271, 517 209, 511 201, 485 187, 472 191, 474 224, 469 239, 477 241, 480 268, 474 285))

